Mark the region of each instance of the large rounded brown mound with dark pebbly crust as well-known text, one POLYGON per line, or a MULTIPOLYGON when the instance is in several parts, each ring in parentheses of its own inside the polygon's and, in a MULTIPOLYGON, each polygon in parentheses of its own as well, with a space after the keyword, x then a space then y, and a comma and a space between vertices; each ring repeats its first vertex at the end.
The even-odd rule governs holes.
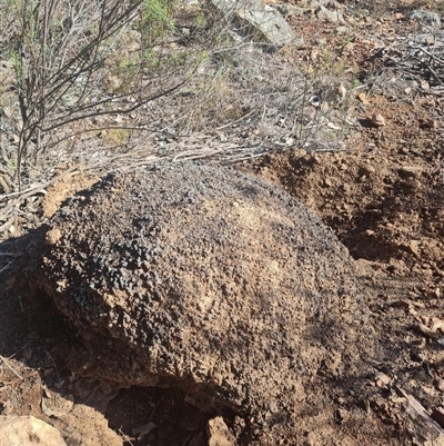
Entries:
POLYGON ((49 234, 30 277, 78 327, 91 377, 174 386, 202 409, 265 422, 367 355, 346 248, 243 174, 190 162, 115 172, 69 200, 49 234))

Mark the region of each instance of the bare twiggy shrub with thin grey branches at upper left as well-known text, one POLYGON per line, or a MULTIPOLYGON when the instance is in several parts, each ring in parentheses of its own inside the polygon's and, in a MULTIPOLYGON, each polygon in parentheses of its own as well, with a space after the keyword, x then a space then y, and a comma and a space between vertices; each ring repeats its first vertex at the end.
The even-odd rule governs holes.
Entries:
MULTIPOLYGON (((125 127, 129 115, 183 86, 213 34, 176 43, 174 0, 0 0, 18 103, 16 178, 63 140, 125 127)), ((134 130, 134 129, 131 129, 134 130)), ((121 138, 122 133, 115 132, 121 138)), ((119 139, 118 138, 118 139, 119 139)))

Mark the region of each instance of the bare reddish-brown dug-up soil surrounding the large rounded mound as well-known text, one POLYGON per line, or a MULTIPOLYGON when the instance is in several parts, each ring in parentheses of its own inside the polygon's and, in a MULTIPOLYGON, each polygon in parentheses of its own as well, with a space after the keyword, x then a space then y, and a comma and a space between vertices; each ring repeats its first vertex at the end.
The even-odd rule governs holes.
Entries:
MULTIPOLYGON (((404 6, 381 11, 380 20, 369 19, 351 41, 335 34, 332 48, 339 57, 345 51, 350 66, 360 67, 363 76, 377 73, 381 61, 370 58, 372 38, 390 42, 413 29, 403 20, 404 6)), ((293 24, 306 43, 301 53, 332 36, 333 24, 316 28, 297 20, 293 24)), ((234 167, 283 187, 334 229, 356 260, 375 341, 385 351, 374 373, 357 384, 340 390, 329 385, 329 377, 321 379, 310 397, 313 409, 309 398, 297 423, 276 426, 263 444, 422 444, 425 429, 412 418, 405 395, 428 414, 444 399, 442 103, 427 95, 400 98, 390 88, 375 89, 367 101, 356 101, 359 125, 342 151, 293 148, 234 167), (372 125, 374 113, 383 116, 385 126, 372 125)), ((60 197, 93 181, 56 185, 48 191, 44 217, 60 197)), ((70 445, 201 444, 199 435, 214 414, 200 413, 179 390, 115 390, 84 380, 81 370, 69 367, 81 340, 44 296, 27 291, 14 269, 16 256, 29 244, 32 232, 1 244, 1 414, 32 414, 58 427, 70 445), (150 422, 157 428, 141 435, 150 422)), ((239 432, 241 422, 224 415, 239 432)), ((260 434, 240 440, 254 443, 260 434)))

